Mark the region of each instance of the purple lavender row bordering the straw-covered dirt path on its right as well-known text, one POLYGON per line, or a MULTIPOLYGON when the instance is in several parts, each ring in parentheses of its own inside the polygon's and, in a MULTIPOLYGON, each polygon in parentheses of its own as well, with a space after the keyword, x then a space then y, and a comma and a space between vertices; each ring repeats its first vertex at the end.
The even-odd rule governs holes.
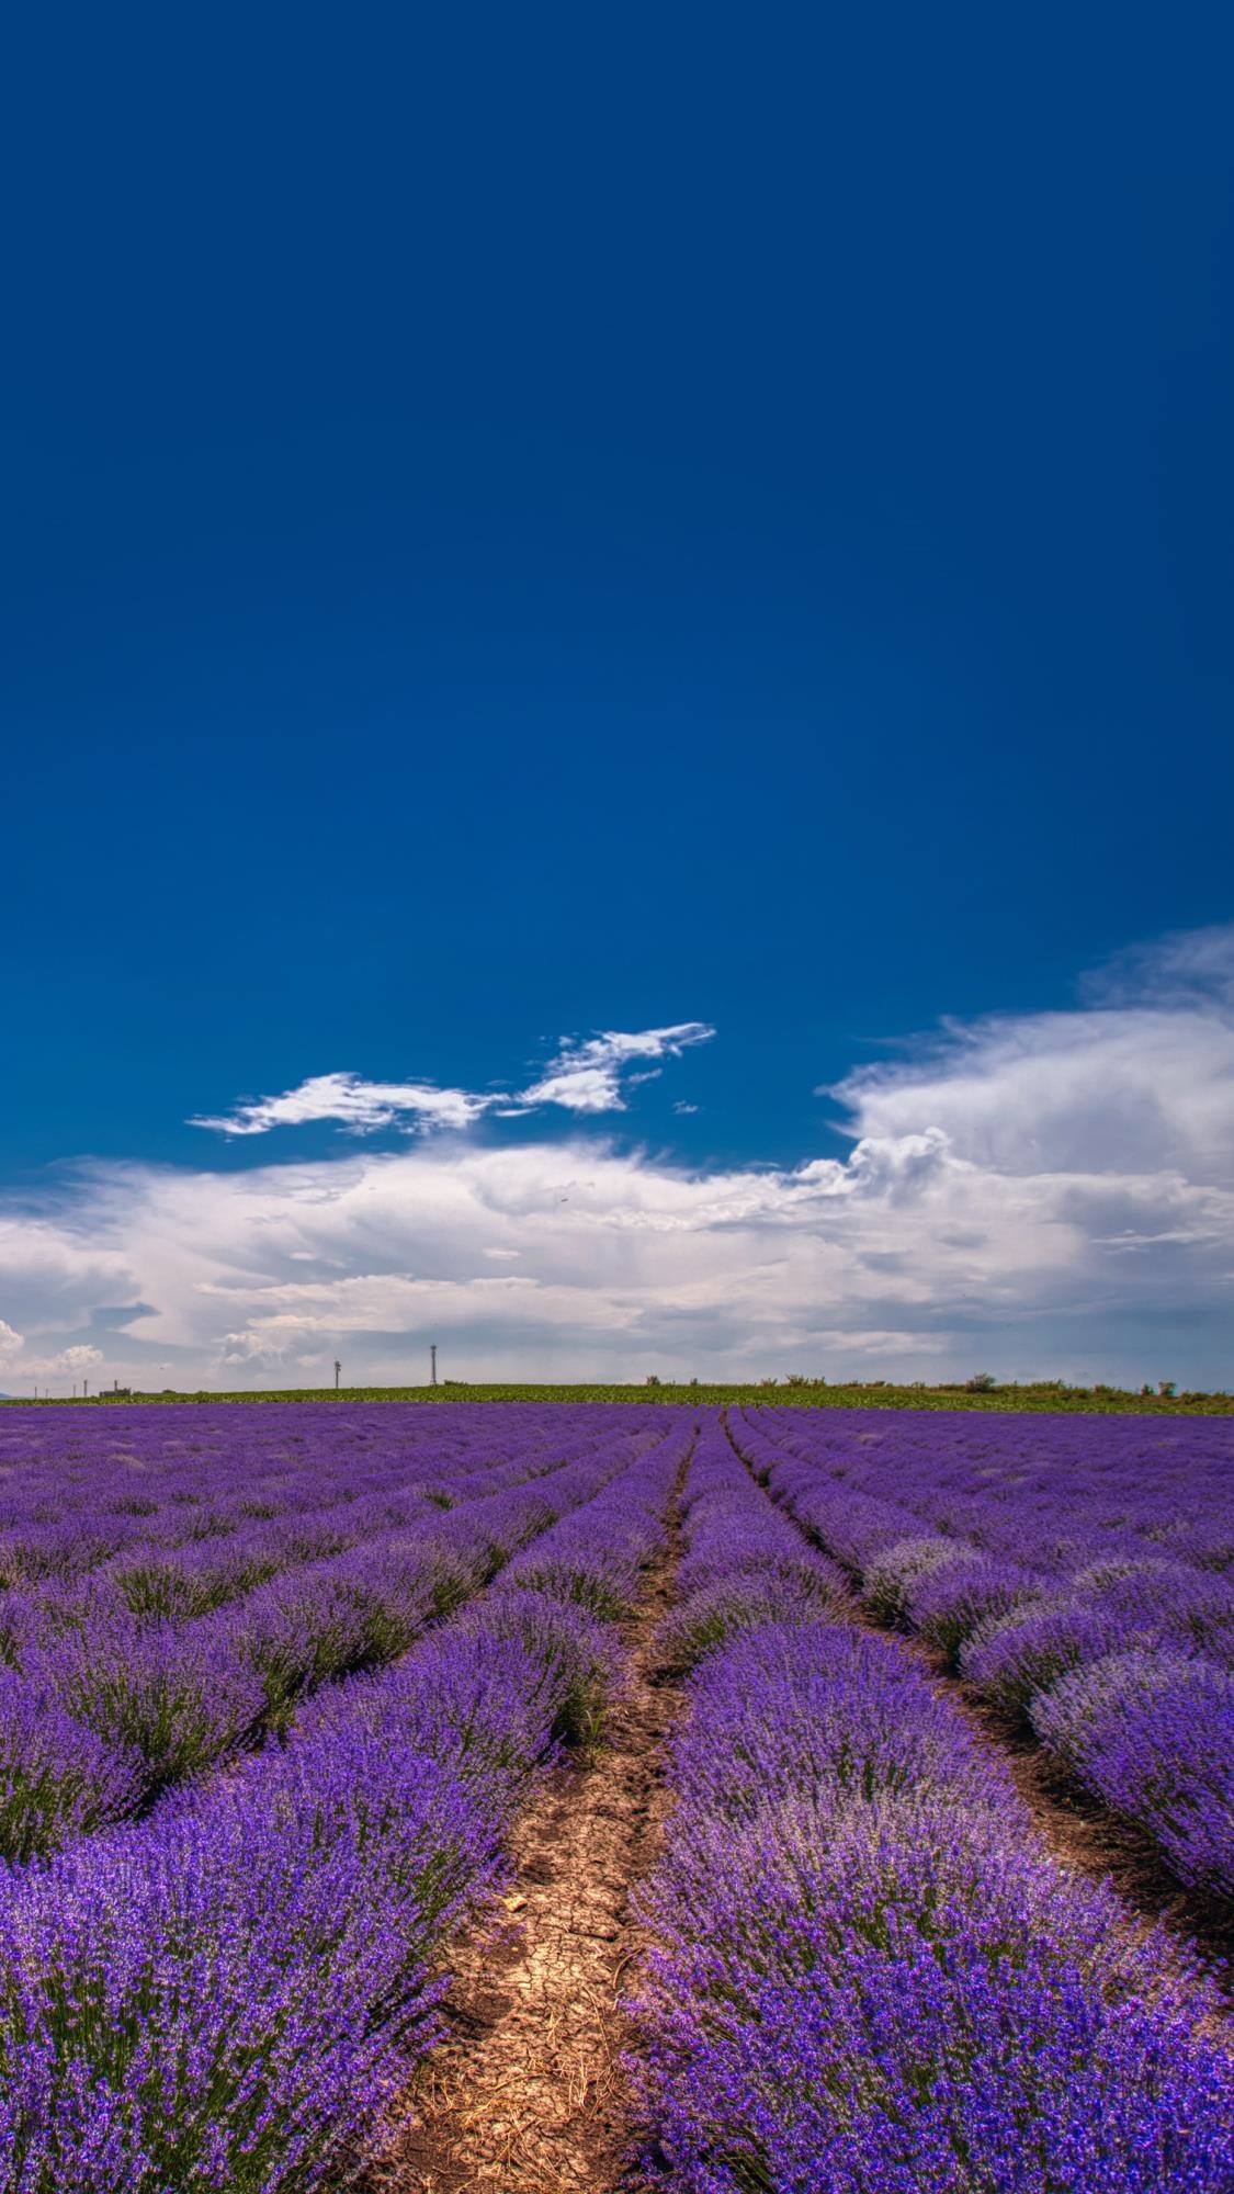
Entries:
POLYGON ((683 2194, 1216 2194, 1208 1983, 1039 1847, 891 1639, 837 1606, 711 1424, 687 1479, 694 1665, 643 1896, 648 2172, 683 2194))

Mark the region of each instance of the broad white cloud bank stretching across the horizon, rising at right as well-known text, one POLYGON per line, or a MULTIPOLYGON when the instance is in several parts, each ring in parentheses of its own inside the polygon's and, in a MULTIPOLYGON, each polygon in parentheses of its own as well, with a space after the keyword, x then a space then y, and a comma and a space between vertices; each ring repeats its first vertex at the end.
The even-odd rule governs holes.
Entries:
MULTIPOLYGON (((312 1380, 336 1354, 351 1378, 406 1380, 437 1341, 468 1378, 1227 1384, 1230 970, 1234 930, 1173 939, 1072 1011, 949 1025, 848 1075, 832 1090, 848 1156, 790 1167, 652 1158, 588 1130, 588 1099, 566 1104, 566 1141, 94 1167, 0 1220, 7 1384, 134 1303, 141 1321, 103 1341, 121 1382, 143 1367, 149 1384, 312 1380)), ((613 1112, 624 1068, 700 1040, 694 1022, 591 1038, 545 1086, 615 1075, 613 1112)))

